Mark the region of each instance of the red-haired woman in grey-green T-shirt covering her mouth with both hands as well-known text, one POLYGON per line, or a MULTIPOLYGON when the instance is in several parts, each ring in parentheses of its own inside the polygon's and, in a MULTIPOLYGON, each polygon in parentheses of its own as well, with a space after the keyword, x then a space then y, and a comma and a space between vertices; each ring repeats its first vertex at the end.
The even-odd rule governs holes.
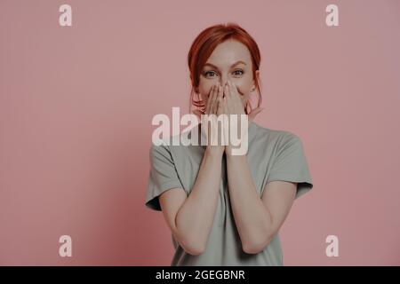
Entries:
POLYGON ((171 229, 172 265, 283 265, 279 228, 313 184, 300 138, 252 121, 261 110, 257 43, 236 24, 206 28, 188 67, 194 113, 248 114, 248 150, 151 146, 146 206, 162 210, 171 229))

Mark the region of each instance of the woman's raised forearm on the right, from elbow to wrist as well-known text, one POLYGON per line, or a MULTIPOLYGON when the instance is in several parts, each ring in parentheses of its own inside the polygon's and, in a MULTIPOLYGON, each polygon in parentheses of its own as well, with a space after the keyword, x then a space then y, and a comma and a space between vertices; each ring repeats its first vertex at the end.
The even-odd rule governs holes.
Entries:
POLYGON ((253 184, 245 155, 227 155, 227 171, 230 202, 242 247, 247 253, 255 253, 270 241, 270 212, 253 184))

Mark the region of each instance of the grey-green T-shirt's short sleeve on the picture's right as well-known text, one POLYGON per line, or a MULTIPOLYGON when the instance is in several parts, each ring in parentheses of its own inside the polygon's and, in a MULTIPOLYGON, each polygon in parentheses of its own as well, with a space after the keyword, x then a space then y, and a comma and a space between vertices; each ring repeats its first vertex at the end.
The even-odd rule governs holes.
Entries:
POLYGON ((267 183, 274 180, 297 182, 295 199, 313 188, 303 144, 298 136, 286 132, 276 151, 267 183))

